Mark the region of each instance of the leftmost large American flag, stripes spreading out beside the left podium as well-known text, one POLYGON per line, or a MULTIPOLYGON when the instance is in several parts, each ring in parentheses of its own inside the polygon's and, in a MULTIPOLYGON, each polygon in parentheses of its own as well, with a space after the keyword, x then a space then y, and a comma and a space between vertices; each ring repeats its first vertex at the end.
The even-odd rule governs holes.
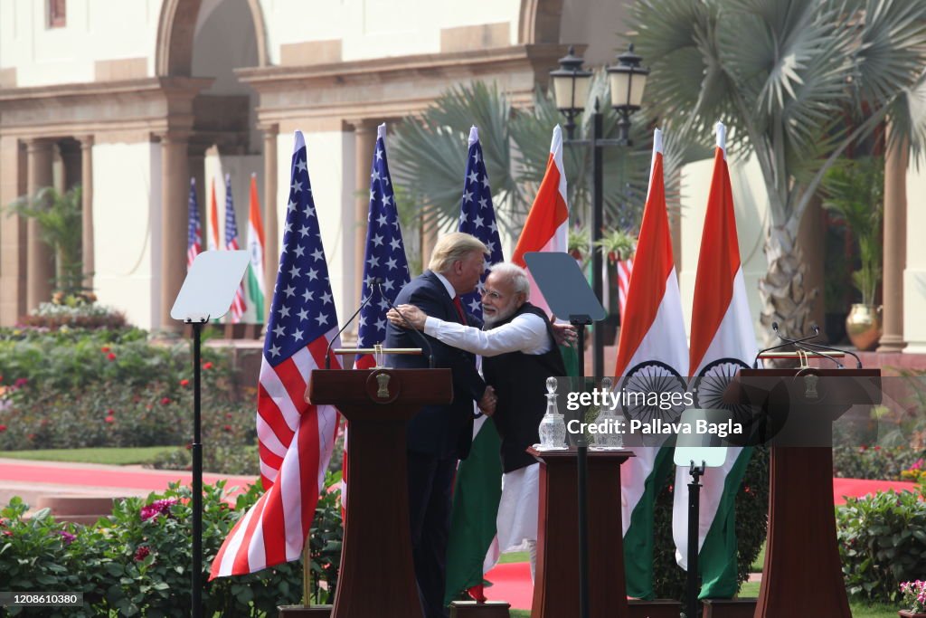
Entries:
MULTIPOLYGON (((295 132, 280 269, 257 387, 260 476, 267 492, 235 524, 211 577, 254 573, 301 555, 331 460, 338 414, 306 403, 309 374, 338 332, 306 142, 295 132)), ((333 347, 340 342, 335 340, 333 347)), ((332 359, 332 369, 340 369, 332 359)))

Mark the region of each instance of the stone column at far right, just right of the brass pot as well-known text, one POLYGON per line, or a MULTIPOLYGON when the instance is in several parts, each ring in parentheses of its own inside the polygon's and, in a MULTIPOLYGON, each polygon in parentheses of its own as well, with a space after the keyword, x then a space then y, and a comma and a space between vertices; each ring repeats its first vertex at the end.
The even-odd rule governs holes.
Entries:
POLYGON ((879 352, 899 352, 904 343, 904 269, 907 268, 907 157, 906 139, 884 153, 884 245, 882 285, 883 330, 879 352))

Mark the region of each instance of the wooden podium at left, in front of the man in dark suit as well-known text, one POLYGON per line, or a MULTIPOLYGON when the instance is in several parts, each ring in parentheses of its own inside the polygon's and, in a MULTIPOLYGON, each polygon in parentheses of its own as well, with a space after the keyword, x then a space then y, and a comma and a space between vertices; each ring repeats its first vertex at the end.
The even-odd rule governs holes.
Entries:
POLYGON ((307 400, 350 422, 350 482, 332 618, 421 618, 408 523, 406 423, 453 399, 449 369, 315 370, 307 400))

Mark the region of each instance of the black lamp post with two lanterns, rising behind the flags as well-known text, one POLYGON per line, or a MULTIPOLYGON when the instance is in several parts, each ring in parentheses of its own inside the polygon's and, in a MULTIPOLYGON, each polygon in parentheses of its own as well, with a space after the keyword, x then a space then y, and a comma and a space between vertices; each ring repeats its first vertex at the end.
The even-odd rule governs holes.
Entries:
MULTIPOLYGON (((565 57, 559 59, 559 69, 550 71, 553 92, 557 108, 566 117, 566 135, 564 144, 587 145, 592 148, 592 290, 599 300, 603 297, 602 256, 596 245, 601 240, 604 227, 604 169, 602 148, 605 146, 633 145, 630 139, 631 115, 640 109, 646 76, 649 69, 640 66, 643 58, 633 53, 633 44, 618 56, 618 64, 607 67, 607 77, 611 87, 611 107, 618 112, 619 136, 617 139, 603 138, 603 124, 597 98, 594 101, 591 139, 575 139, 575 118, 582 114, 588 99, 592 71, 582 69, 582 57, 575 55, 575 49, 569 47, 565 57)), ((604 329, 594 329, 592 368, 595 377, 601 377, 605 368, 604 329)), ((584 354, 580 350, 580 354, 584 354)))

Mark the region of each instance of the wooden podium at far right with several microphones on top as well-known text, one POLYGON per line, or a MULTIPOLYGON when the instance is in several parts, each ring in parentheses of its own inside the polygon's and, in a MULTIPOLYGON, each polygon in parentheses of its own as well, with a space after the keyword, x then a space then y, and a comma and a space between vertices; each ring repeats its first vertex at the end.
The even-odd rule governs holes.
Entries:
POLYGON ((880 376, 878 369, 744 369, 732 383, 772 427, 769 538, 755 618, 852 618, 836 545, 829 440, 845 410, 881 401, 880 376))

